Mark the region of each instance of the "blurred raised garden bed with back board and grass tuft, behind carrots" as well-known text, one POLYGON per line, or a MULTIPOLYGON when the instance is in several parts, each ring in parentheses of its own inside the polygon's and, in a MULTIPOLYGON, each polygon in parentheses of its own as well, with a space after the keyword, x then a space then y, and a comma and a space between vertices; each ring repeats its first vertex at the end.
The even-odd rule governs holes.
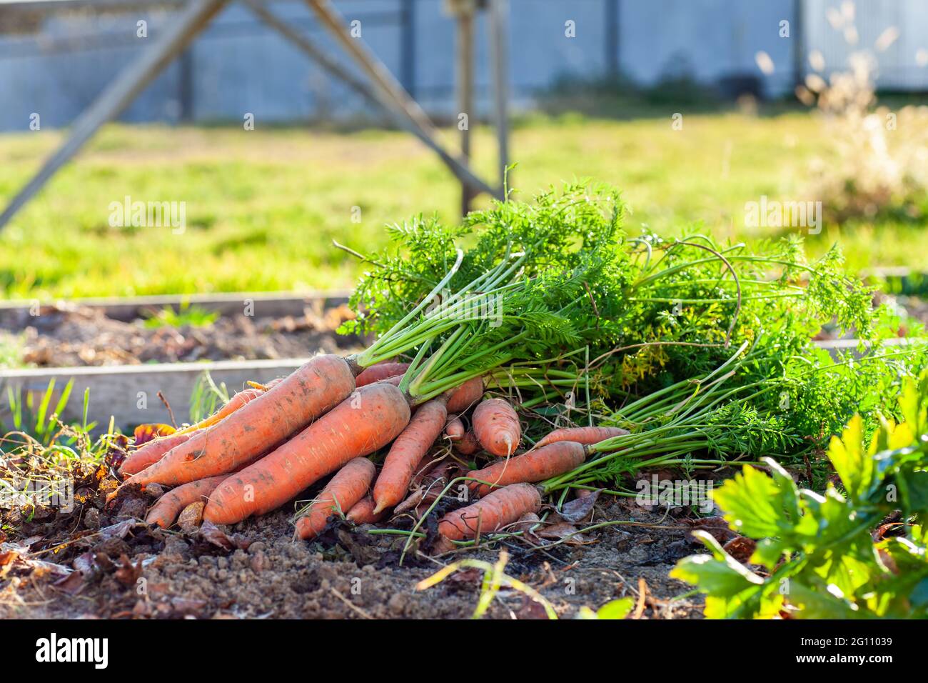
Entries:
POLYGON ((20 367, 299 358, 351 348, 352 317, 330 296, 240 294, 84 299, 0 308, 0 347, 20 367))

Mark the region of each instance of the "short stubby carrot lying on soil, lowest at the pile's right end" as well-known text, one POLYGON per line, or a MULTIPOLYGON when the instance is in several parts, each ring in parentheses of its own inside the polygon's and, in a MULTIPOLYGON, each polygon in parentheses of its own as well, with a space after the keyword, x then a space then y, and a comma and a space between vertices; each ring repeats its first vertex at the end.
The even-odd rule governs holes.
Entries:
POLYGON ((531 484, 509 484, 473 505, 462 507, 438 521, 438 532, 448 541, 473 538, 477 532, 496 532, 527 512, 541 508, 541 495, 531 484))

